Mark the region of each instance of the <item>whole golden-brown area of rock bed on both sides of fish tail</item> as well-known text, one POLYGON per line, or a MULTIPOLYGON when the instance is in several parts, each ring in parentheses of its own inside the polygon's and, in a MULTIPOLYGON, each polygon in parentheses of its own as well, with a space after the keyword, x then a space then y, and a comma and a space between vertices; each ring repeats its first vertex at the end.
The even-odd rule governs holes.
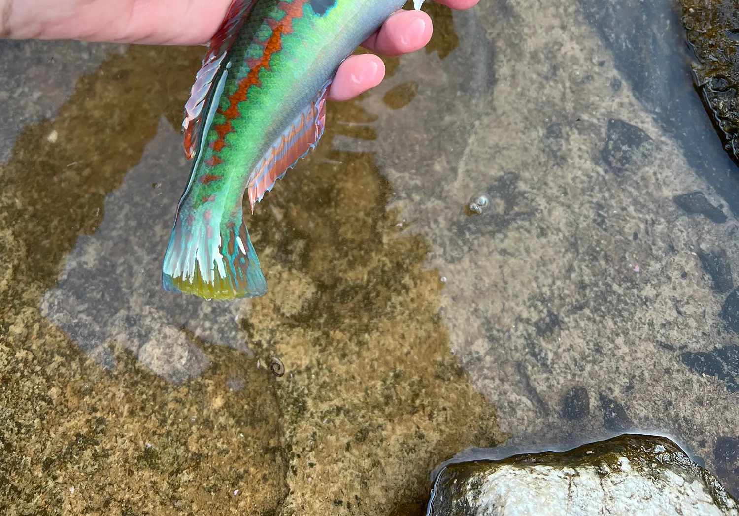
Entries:
POLYGON ((108 372, 38 313, 160 117, 179 127, 201 55, 112 55, 0 168, 0 512, 413 514, 440 461, 505 436, 450 350, 442 283, 385 210, 374 154, 332 150, 337 134, 375 138, 361 100, 329 107, 319 148, 249 221, 270 293, 242 330, 283 376, 202 342, 211 365, 183 385, 117 346, 108 372))

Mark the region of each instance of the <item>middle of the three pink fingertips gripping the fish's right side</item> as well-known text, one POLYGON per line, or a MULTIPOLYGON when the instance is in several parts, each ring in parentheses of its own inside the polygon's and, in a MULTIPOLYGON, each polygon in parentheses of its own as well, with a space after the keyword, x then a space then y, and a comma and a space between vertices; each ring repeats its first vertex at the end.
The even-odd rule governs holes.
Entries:
POLYGON ((426 13, 401 10, 392 13, 362 47, 383 55, 407 54, 426 47, 432 30, 431 18, 426 13))

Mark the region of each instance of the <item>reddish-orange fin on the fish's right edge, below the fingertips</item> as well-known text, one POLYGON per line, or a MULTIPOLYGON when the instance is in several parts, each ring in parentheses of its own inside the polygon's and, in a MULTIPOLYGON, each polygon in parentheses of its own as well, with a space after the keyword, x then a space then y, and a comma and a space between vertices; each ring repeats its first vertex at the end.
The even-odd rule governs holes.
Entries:
POLYGON ((326 126, 326 99, 332 81, 293 119, 251 171, 248 191, 252 213, 254 204, 272 190, 277 179, 318 144, 326 126))

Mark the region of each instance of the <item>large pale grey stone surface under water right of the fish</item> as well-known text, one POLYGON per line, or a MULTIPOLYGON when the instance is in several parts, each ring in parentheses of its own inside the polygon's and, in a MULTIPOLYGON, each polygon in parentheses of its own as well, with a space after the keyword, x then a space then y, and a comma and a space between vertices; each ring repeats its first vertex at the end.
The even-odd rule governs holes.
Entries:
POLYGON ((739 427, 739 173, 678 13, 508 0, 474 23, 490 45, 477 86, 438 106, 422 83, 402 113, 376 112, 390 206, 431 243, 452 348, 511 434, 486 456, 639 430, 719 472, 714 447, 739 427), (428 113, 438 134, 394 137, 428 113), (490 209, 470 215, 480 193, 490 209))

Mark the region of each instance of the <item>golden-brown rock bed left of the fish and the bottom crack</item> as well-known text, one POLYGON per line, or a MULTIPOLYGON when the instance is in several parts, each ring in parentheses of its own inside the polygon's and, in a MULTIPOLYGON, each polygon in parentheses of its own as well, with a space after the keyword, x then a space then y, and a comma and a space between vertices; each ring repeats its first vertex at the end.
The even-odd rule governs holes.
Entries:
POLYGON ((0 167, 2 514, 262 514, 287 494, 274 380, 255 359, 200 343, 211 367, 171 385, 116 346, 109 373, 36 308, 160 117, 179 125, 200 55, 110 55, 0 167))

